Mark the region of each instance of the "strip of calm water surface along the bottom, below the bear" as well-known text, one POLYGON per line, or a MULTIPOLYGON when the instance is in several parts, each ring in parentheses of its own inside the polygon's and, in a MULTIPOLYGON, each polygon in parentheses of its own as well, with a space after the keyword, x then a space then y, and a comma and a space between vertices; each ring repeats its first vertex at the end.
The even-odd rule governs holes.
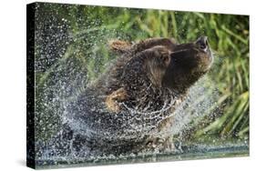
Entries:
POLYGON ((98 165, 118 165, 118 164, 135 164, 144 162, 164 162, 179 160, 195 160, 217 157, 237 157, 249 156, 249 145, 244 143, 225 143, 222 145, 184 145, 181 149, 173 152, 138 154, 129 156, 97 156, 91 158, 79 157, 56 157, 37 160, 36 168, 56 168, 56 167, 73 167, 73 166, 98 166, 98 165))

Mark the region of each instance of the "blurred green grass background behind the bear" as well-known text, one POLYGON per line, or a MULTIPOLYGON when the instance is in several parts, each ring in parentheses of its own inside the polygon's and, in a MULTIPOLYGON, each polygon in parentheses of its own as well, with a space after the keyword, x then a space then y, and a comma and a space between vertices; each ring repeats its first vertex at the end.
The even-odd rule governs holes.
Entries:
POLYGON ((36 71, 38 85, 45 82, 53 65, 69 55, 85 65, 87 82, 95 79, 116 57, 108 52, 111 39, 136 42, 160 36, 187 43, 207 35, 215 55, 208 75, 220 95, 210 110, 218 114, 206 116, 193 138, 249 138, 249 16, 37 4, 36 22, 36 59, 40 61, 42 52, 51 54, 46 64, 38 65, 43 68, 36 71), (63 37, 55 39, 53 35, 59 34, 63 37), (53 42, 56 46, 49 47, 53 42))

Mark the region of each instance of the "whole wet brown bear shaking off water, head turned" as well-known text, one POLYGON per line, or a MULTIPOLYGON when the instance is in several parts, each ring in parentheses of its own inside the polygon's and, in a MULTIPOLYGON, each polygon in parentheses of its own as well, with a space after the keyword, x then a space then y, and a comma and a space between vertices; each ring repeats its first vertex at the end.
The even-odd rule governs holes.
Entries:
POLYGON ((71 129, 84 133, 74 146, 116 155, 173 148, 173 111, 213 61, 207 37, 112 41, 110 49, 117 59, 67 107, 71 129))

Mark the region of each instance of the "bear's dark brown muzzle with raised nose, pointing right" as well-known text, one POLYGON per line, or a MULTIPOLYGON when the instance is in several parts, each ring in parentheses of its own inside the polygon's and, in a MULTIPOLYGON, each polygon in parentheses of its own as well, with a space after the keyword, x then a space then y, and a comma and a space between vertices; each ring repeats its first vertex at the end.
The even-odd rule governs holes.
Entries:
POLYGON ((210 45, 206 36, 195 42, 175 45, 170 52, 169 65, 162 77, 162 85, 175 90, 186 90, 199 80, 213 61, 210 45))

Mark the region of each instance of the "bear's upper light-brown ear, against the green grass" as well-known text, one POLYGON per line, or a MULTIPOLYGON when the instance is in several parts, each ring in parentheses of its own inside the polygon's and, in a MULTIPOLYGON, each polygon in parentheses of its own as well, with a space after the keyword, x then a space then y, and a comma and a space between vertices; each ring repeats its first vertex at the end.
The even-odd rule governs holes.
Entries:
POLYGON ((118 54, 124 54, 130 49, 131 43, 121 40, 111 40, 108 42, 108 46, 111 51, 118 54))

